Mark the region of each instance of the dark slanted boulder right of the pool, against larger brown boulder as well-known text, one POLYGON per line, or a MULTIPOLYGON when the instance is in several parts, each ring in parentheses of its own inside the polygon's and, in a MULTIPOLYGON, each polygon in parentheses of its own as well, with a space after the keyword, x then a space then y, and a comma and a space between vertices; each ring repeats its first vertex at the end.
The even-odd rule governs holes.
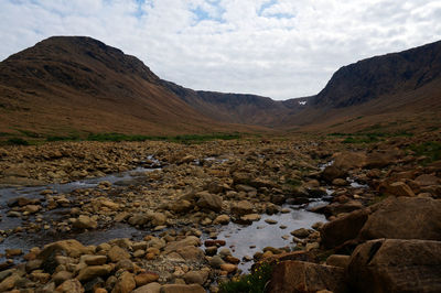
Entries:
POLYGON ((326 223, 320 231, 322 246, 331 249, 357 238, 368 216, 368 209, 361 209, 326 223))

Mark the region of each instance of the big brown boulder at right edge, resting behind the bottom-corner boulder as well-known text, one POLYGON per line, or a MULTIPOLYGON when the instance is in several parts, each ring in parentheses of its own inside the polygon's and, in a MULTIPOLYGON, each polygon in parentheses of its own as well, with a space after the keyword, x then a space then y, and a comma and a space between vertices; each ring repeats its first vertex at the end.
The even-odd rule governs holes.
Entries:
POLYGON ((441 240, 441 199, 389 197, 373 207, 361 238, 441 240))

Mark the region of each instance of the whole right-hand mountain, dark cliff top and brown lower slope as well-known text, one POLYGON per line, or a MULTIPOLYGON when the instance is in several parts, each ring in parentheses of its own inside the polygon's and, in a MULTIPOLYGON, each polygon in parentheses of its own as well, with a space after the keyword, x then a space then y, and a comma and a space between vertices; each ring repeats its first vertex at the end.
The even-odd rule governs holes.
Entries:
POLYGON ((441 41, 343 66, 308 105, 284 120, 287 128, 440 128, 441 41))

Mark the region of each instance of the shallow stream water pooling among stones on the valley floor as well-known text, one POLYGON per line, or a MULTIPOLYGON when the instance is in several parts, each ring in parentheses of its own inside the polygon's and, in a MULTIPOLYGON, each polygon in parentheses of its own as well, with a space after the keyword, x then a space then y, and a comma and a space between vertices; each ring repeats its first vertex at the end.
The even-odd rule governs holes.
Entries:
MULTIPOLYGON (((215 159, 207 159, 215 160, 215 159)), ((57 194, 68 194, 74 189, 78 188, 93 188, 96 187, 99 182, 108 181, 115 185, 123 183, 125 181, 136 180, 141 172, 149 172, 155 169, 137 167, 132 171, 110 174, 99 178, 86 178, 82 181, 75 181, 66 184, 49 184, 46 186, 39 187, 9 187, 0 188, 0 215, 2 220, 0 221, 0 230, 14 229, 23 224, 20 217, 7 216, 8 202, 17 197, 37 198, 44 199, 44 195, 40 193, 44 189, 56 191, 57 194)), ((352 187, 364 187, 363 185, 352 182, 352 187)), ((327 189, 327 197, 332 194, 332 191, 327 189)), ((259 221, 255 221, 251 225, 245 226, 235 223, 229 223, 225 226, 216 227, 218 234, 217 239, 226 241, 226 246, 230 248, 233 256, 238 259, 244 257, 252 257, 257 251, 261 251, 265 247, 290 247, 291 249, 295 246, 292 242, 292 236, 290 232, 299 228, 311 228, 311 226, 318 221, 325 223, 326 219, 323 215, 311 213, 308 209, 316 205, 323 205, 323 198, 313 198, 313 202, 301 205, 284 205, 282 208, 288 209, 286 213, 279 213, 276 215, 261 215, 259 221), (277 221, 275 225, 266 223, 266 219, 272 219, 277 221), (283 227, 284 226, 284 227, 283 227)), ((43 206, 45 203, 43 202, 43 206)), ((54 210, 45 211, 44 218, 47 220, 56 219, 57 215, 68 214, 69 208, 56 208, 54 210)), ((34 216, 29 216, 28 221, 34 221, 34 216)), ((116 238, 130 238, 133 240, 140 240, 146 234, 153 234, 149 230, 140 230, 127 224, 115 224, 107 229, 90 230, 84 232, 65 232, 54 234, 51 231, 42 230, 37 234, 26 232, 12 232, 9 237, 4 238, 0 242, 0 253, 4 253, 8 248, 19 248, 26 253, 33 247, 43 247, 53 241, 62 239, 76 239, 83 245, 99 245, 107 242, 116 238)), ((208 235, 204 234, 202 239, 208 239, 208 235)), ((0 259, 4 261, 4 257, 0 259)), ((251 267, 251 262, 239 263, 239 269, 247 272, 251 267)))

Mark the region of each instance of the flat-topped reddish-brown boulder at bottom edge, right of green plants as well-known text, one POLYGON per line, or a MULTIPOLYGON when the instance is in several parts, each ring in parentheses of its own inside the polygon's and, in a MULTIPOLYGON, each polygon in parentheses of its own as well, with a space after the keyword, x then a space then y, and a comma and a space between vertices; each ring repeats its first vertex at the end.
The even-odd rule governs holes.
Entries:
POLYGON ((310 293, 329 290, 345 292, 344 269, 303 261, 282 261, 272 271, 269 291, 310 293))

